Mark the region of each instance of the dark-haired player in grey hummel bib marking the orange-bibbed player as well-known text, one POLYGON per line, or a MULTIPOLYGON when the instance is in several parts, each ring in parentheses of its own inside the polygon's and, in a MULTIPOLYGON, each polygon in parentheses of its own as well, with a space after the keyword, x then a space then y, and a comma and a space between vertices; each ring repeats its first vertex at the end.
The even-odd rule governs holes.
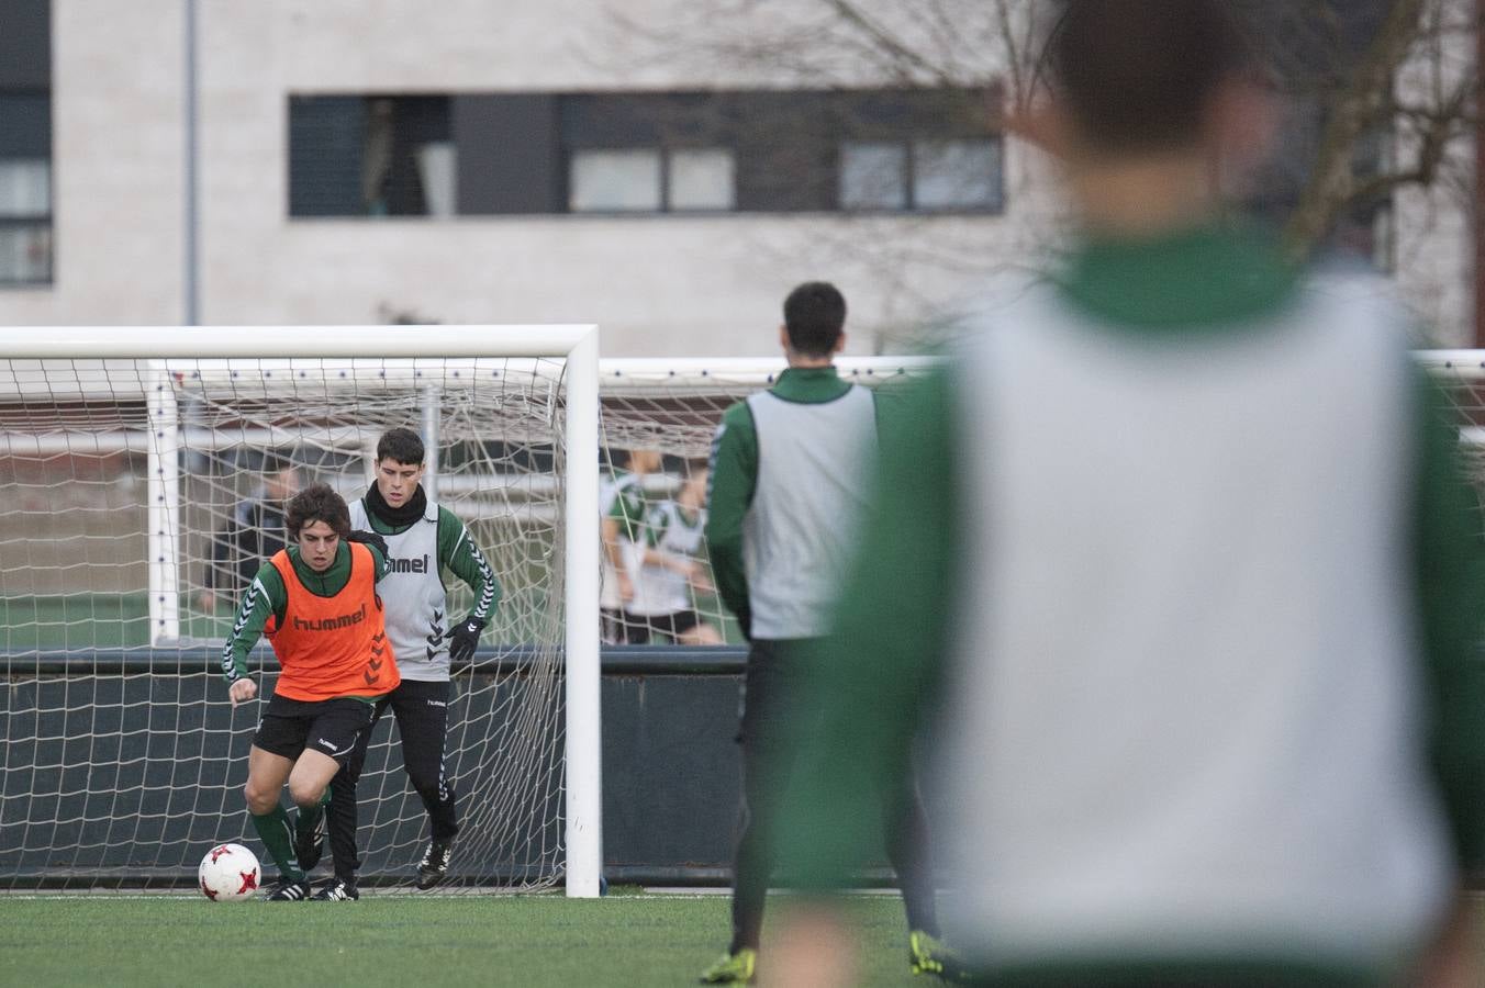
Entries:
MULTIPOLYGON (((398 663, 402 682, 377 702, 376 719, 391 706, 402 765, 428 810, 431 834, 417 865, 419 889, 431 889, 447 875, 459 834, 456 792, 446 771, 450 663, 474 657, 480 632, 500 602, 500 584, 469 530, 423 491, 425 469, 419 435, 391 429, 377 441, 376 482, 350 504, 352 525, 386 540, 392 568, 382 584, 386 633, 395 654, 405 660, 398 663), (446 570, 474 590, 474 608, 463 617, 448 614, 446 570)), ((376 721, 331 786, 331 814, 355 814, 353 788, 374 728, 376 721), (342 798, 342 791, 349 798, 342 798)))

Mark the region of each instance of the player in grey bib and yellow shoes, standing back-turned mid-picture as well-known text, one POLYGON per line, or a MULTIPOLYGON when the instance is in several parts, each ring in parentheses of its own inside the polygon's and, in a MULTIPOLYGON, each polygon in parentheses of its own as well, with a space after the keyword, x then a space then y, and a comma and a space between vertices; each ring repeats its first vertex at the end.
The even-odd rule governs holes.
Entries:
MULTIPOLYGON (((842 381, 845 298, 826 282, 784 300, 778 331, 789 369, 722 415, 713 445, 707 546, 722 601, 750 648, 744 674, 742 829, 732 868, 732 942, 702 982, 748 982, 774 874, 774 804, 797 743, 800 662, 824 635, 876 451, 876 396, 842 381)), ((907 908, 915 972, 939 973, 947 951, 934 915, 928 826, 912 776, 873 794, 907 908), (876 798, 879 797, 879 798, 876 798)))

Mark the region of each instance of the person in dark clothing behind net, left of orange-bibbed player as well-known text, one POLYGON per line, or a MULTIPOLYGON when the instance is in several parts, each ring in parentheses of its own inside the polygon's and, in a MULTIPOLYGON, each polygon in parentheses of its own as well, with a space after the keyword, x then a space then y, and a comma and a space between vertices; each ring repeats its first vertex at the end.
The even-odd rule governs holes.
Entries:
POLYGON ((298 490, 298 470, 288 460, 269 454, 263 460, 263 487, 238 501, 232 518, 211 537, 211 562, 202 574, 196 598, 203 614, 217 613, 217 598, 236 607, 238 595, 257 576, 263 561, 284 547, 284 503, 298 490))

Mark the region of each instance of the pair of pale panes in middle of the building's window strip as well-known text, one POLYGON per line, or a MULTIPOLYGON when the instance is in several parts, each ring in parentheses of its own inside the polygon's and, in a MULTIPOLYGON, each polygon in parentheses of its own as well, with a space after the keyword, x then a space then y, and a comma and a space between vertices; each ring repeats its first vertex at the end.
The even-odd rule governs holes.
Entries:
POLYGON ((572 212, 729 211, 732 151, 725 148, 593 148, 572 154, 572 212))

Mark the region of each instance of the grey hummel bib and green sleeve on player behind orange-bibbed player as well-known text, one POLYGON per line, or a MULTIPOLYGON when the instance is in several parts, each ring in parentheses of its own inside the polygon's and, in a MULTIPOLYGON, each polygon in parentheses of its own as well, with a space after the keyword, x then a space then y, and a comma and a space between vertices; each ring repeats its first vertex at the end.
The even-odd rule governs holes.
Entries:
POLYGON ((443 570, 474 589, 475 605, 469 616, 489 622, 500 599, 500 584, 484 553, 463 522, 432 500, 419 521, 394 530, 374 516, 362 497, 350 503, 350 527, 377 531, 386 539, 391 574, 380 583, 380 595, 386 633, 402 678, 447 682, 444 635, 460 619, 448 614, 443 570))

